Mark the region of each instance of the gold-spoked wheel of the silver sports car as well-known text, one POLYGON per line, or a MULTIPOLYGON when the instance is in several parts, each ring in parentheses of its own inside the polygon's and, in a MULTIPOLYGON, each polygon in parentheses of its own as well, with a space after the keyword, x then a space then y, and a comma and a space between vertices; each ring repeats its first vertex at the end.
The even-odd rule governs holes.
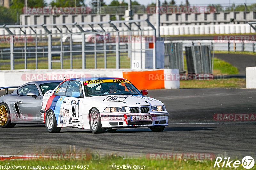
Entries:
POLYGON ((0 104, 0 127, 12 128, 16 124, 11 123, 11 116, 8 106, 5 103, 0 104))

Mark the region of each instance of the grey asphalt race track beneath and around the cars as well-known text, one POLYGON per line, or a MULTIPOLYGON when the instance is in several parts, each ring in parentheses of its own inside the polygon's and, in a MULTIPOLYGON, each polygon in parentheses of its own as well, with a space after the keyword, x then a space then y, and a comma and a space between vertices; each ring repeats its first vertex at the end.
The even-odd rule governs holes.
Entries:
POLYGON ((163 132, 149 128, 119 129, 104 134, 63 128, 48 133, 44 124, 20 124, 0 129, 0 154, 34 153, 39 148, 76 150, 91 148, 102 153, 214 153, 216 156, 255 156, 256 122, 214 121, 215 113, 254 113, 255 89, 172 89, 149 90, 169 113, 163 132))

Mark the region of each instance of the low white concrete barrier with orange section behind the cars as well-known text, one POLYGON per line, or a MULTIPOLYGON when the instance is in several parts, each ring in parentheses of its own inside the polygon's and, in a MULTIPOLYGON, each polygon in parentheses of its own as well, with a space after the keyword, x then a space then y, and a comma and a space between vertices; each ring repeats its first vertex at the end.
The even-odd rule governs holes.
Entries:
POLYGON ((138 89, 178 89, 178 69, 40 69, 1 70, 0 87, 20 86, 30 81, 65 80, 79 77, 120 77, 131 81, 138 89), (65 77, 65 78, 64 78, 65 77))

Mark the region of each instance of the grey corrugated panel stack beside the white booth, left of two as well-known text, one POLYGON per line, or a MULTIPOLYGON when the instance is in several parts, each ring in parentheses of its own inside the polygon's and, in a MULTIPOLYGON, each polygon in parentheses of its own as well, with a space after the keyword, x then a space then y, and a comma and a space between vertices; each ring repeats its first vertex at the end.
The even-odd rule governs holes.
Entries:
POLYGON ((164 68, 179 69, 184 72, 184 54, 182 43, 165 42, 164 43, 164 68))

